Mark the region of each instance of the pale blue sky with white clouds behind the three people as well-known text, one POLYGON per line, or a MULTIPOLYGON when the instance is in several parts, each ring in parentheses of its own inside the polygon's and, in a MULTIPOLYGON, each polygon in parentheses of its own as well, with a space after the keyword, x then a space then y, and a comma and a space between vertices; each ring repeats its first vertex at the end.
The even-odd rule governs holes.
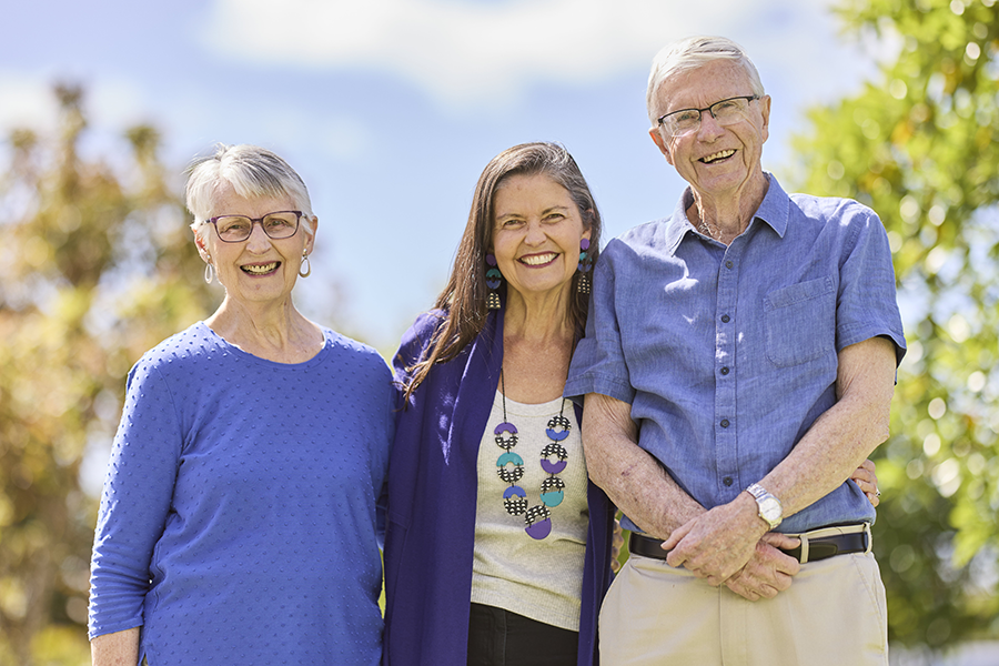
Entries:
POLYGON ((385 355, 433 304, 475 182, 506 148, 563 143, 605 242, 672 212, 685 183, 645 110, 649 64, 672 41, 720 34, 747 50, 773 98, 764 167, 783 179, 806 110, 876 71, 825 0, 4 4, 0 161, 12 128, 54 127, 56 82, 84 88, 89 157, 113 161, 127 128, 157 127, 179 193, 218 142, 275 151, 320 218, 300 307, 385 355))

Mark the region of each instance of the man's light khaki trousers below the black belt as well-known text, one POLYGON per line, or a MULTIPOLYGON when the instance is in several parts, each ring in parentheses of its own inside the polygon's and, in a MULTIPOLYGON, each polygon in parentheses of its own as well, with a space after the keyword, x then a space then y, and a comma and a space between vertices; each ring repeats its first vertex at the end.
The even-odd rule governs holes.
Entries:
POLYGON ((790 588, 758 602, 632 555, 599 623, 603 666, 888 665, 885 586, 869 553, 803 564, 790 588))

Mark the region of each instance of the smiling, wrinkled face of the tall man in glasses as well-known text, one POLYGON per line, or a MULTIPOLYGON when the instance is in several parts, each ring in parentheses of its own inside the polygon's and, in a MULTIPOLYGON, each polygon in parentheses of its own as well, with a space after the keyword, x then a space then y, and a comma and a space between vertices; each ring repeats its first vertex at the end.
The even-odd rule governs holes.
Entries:
MULTIPOLYGON (((729 60, 715 60, 675 74, 656 91, 658 115, 680 109, 704 109, 737 95, 753 94, 749 75, 729 60)), ((770 98, 749 102, 744 120, 722 127, 704 111, 700 127, 688 134, 672 137, 660 127, 649 135, 702 196, 725 198, 747 184, 765 180, 760 159, 770 119, 770 98)))

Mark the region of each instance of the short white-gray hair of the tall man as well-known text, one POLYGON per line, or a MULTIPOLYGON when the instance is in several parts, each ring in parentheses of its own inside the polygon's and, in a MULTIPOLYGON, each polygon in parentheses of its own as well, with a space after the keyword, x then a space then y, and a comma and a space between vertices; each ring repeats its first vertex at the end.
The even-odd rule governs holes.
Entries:
POLYGON ((759 72, 756 71, 756 65, 746 56, 743 47, 725 37, 688 37, 669 44, 656 53, 653 59, 652 71, 648 73, 648 90, 645 93, 645 105, 653 128, 659 120, 656 109, 656 92, 666 79, 707 64, 713 60, 731 60, 740 65, 749 75, 753 94, 759 97, 766 94, 759 72))

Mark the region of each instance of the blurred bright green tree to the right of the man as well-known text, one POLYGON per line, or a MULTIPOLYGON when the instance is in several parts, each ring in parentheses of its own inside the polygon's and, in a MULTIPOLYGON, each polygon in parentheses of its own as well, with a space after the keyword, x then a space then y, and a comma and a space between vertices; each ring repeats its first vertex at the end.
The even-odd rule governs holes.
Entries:
POLYGON ((890 638, 999 637, 999 11, 996 0, 845 0, 897 49, 810 112, 796 186, 857 199, 888 230, 907 324, 875 551, 890 638))

